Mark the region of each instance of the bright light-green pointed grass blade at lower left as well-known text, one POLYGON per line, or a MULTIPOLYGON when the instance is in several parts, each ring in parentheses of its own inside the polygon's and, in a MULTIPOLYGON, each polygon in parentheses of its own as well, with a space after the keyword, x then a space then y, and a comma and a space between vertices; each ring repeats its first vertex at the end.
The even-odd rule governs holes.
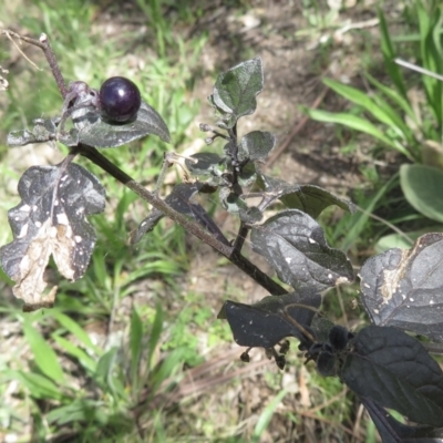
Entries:
POLYGON ((64 373, 52 347, 29 321, 23 322, 23 332, 39 369, 53 381, 63 384, 64 373))

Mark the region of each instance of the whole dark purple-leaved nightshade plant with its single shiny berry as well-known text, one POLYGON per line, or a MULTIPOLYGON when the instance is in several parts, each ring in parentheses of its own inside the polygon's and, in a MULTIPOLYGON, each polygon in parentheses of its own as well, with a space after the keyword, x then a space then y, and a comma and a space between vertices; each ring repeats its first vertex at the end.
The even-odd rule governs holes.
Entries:
MULTIPOLYGON (((361 399, 383 442, 443 442, 443 372, 425 347, 405 332, 436 342, 434 350, 443 341, 443 234, 427 234, 410 250, 391 249, 363 265, 361 299, 372 324, 350 332, 321 318, 320 292, 351 282, 354 276, 346 254, 328 245, 317 218, 331 205, 348 212, 354 206, 318 186, 265 175, 260 164, 276 145, 271 133, 238 136, 239 120, 256 111, 256 97, 264 87, 259 58, 217 78, 208 97, 217 121, 214 126, 202 124, 200 130, 207 133, 208 145, 220 141, 223 146, 188 157, 188 179, 162 199, 157 189, 150 192, 97 150, 146 135, 169 142, 166 123, 141 99, 136 85, 112 78, 100 92, 79 81, 66 86, 47 35, 34 40, 3 33, 42 49, 63 99, 59 116, 35 120, 31 131, 11 132, 8 144, 58 141, 70 148, 59 165, 32 166, 23 174, 21 202, 9 210, 13 240, 0 249, 1 266, 16 281, 13 292, 24 301, 23 310, 55 302, 56 288, 47 290, 43 279, 51 256, 61 275, 72 281, 84 275, 90 262, 95 234, 87 217, 103 212, 105 190, 73 162, 82 155, 153 206, 132 233, 132 243, 147 235, 162 217, 169 217, 269 292, 254 305, 226 300, 218 315, 228 321, 236 343, 247 348, 241 353, 244 362, 249 361, 251 348, 264 348, 284 369, 288 338, 295 338, 320 375, 338 377, 361 399), (239 219, 235 238, 226 237, 195 199, 205 194, 218 198, 239 219), (276 212, 272 206, 269 216, 276 200, 282 209, 276 212), (289 290, 243 255, 248 236, 253 250, 289 290), (400 412, 409 422, 400 423, 388 410, 400 412)), ((166 155, 163 173, 167 162, 166 155)))

